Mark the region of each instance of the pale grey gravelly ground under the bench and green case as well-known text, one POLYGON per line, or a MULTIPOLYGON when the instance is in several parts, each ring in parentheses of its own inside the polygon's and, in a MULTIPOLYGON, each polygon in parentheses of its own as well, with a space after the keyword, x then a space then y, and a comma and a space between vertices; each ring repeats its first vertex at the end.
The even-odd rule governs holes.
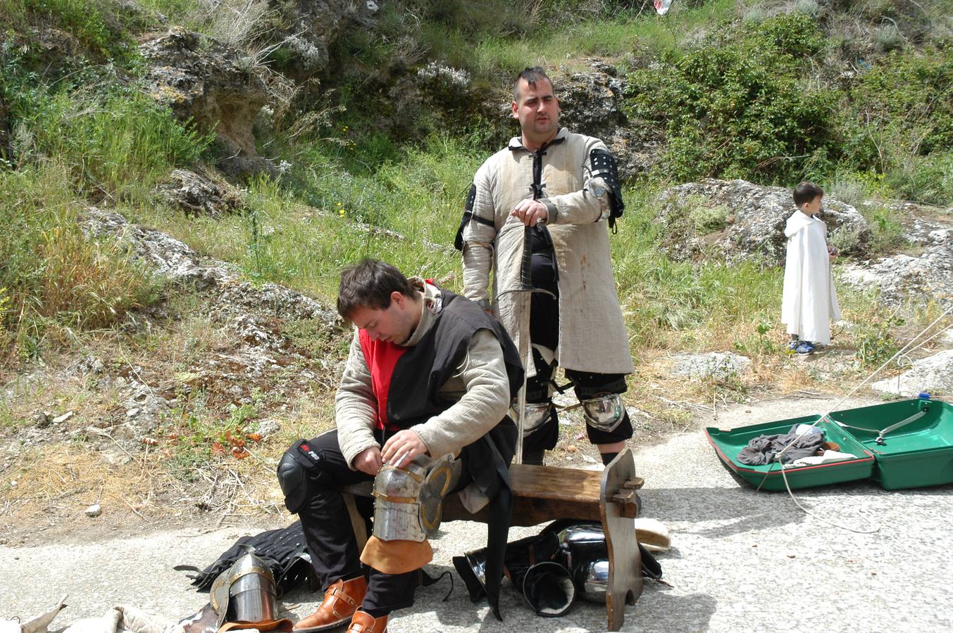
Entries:
MULTIPOLYGON (((876 404, 859 398, 839 408, 876 404)), ((701 425, 740 426, 822 413, 835 401, 786 399, 732 406, 701 425)), ((645 479, 645 516, 671 531, 673 547, 659 554, 673 586, 647 583, 626 608, 622 630, 636 631, 935 631, 953 628, 948 553, 953 550, 953 485, 884 491, 869 481, 786 493, 756 492, 720 465, 701 430, 636 451, 645 479), (856 533, 824 523, 856 529, 856 533)), ((211 563, 244 534, 263 526, 196 528, 121 538, 86 537, 83 524, 71 539, 30 546, 0 546, 0 619, 21 619, 51 607, 69 593, 69 607, 51 624, 62 628, 105 614, 114 604, 178 620, 208 600, 192 590, 174 564, 211 563)), ((514 529, 511 538, 536 528, 514 529)), ((108 530, 107 530, 108 533, 108 530)), ((445 524, 435 542, 431 571, 452 570, 451 556, 475 549, 483 525, 445 524)), ((604 609, 578 604, 566 617, 538 618, 504 582, 505 622, 472 604, 459 580, 441 602, 446 579, 417 593, 417 603, 392 618, 401 631, 605 630, 604 609)), ((296 591, 281 601, 297 619, 314 609, 317 596, 296 591)))

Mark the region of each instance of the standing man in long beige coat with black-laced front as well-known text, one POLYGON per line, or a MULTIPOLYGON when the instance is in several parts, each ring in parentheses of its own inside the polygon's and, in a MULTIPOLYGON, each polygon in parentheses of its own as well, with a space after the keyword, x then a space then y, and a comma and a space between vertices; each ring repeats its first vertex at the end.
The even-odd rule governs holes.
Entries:
POLYGON ((517 75, 511 108, 521 135, 476 171, 456 234, 463 293, 493 311, 521 358, 532 346, 523 463, 542 464, 556 446, 552 379, 562 366, 589 441, 608 464, 632 437, 620 394, 635 369, 609 250, 623 208, 616 161, 598 138, 559 127, 558 99, 542 69, 517 75))

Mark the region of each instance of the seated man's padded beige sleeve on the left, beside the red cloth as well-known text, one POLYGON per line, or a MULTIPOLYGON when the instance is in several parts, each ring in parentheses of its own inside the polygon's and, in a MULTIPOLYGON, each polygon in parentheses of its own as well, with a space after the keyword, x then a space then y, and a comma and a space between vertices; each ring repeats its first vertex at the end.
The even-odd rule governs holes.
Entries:
POLYGON ((377 445, 374 438, 376 413, 377 399, 371 386, 371 370, 364 360, 355 329, 351 351, 335 394, 337 443, 352 469, 358 453, 377 445))

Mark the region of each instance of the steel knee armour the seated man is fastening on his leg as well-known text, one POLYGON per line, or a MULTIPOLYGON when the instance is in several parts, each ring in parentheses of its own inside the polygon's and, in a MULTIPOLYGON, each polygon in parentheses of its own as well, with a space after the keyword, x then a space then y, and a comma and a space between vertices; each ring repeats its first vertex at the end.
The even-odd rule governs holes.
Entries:
POLYGON ((384 465, 374 480, 374 535, 381 541, 426 541, 440 526, 443 498, 462 473, 454 455, 418 455, 410 464, 384 465))

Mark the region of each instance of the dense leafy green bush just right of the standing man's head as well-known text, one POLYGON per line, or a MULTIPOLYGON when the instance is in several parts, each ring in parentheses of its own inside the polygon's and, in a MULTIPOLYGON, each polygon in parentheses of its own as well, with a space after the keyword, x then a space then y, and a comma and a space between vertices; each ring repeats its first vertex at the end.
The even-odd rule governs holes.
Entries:
POLYGON ((780 15, 725 40, 663 55, 660 70, 629 75, 633 113, 667 122, 661 170, 680 181, 792 182, 828 168, 838 152, 834 99, 803 81, 823 44, 817 24, 802 13, 780 15))

